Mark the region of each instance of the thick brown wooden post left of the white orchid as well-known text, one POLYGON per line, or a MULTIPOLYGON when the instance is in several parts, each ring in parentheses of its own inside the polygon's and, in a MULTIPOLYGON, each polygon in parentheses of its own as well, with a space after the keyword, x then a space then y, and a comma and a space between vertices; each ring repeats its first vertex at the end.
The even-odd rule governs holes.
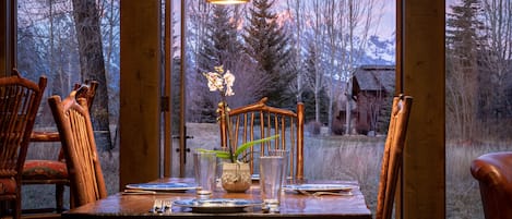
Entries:
POLYGON ((160 177, 160 1, 121 1, 120 188, 160 177))

